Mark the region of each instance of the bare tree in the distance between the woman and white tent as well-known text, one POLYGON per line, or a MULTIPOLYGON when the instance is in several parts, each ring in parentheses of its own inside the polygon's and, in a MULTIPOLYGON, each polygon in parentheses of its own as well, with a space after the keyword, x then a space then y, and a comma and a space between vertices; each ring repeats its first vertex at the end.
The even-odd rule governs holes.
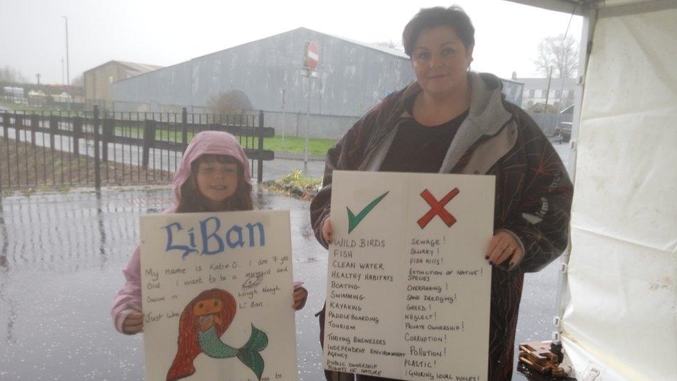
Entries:
POLYGON ((572 78, 579 69, 579 43, 571 35, 545 37, 538 44, 538 57, 533 60, 533 65, 544 77, 552 66, 554 78, 572 78))

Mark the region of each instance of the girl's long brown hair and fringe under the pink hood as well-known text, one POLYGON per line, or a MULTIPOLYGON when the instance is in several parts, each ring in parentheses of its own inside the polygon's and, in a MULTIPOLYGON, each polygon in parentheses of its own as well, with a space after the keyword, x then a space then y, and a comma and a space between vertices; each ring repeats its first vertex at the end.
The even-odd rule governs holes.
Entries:
MULTIPOLYGON (((221 164, 237 164, 237 190, 235 194, 228 198, 228 208, 225 210, 252 210, 254 202, 252 201, 252 186, 244 180, 244 169, 242 164, 232 156, 228 155, 201 155, 191 162, 191 174, 181 185, 181 201, 176 208, 177 213, 194 212, 225 212, 225 210, 209 210, 207 208, 207 199, 198 189, 198 169, 203 162, 218 162, 221 164)), ((247 173, 249 176, 249 173, 247 173)))

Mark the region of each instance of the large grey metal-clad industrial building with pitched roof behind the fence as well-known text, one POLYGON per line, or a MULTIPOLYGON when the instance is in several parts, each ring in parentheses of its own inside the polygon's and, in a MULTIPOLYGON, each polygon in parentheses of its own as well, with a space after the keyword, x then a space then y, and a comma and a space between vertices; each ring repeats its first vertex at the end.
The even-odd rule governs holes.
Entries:
MULTIPOLYGON (((297 28, 118 81, 113 84, 113 107, 213 112, 212 99, 230 94, 254 111, 263 110, 266 126, 274 127, 276 135, 302 136, 309 126, 310 137, 336 138, 414 78, 403 51, 297 28), (320 51, 310 86, 303 69, 309 41, 320 51)), ((520 104, 521 88, 511 94, 520 96, 515 102, 520 104)))

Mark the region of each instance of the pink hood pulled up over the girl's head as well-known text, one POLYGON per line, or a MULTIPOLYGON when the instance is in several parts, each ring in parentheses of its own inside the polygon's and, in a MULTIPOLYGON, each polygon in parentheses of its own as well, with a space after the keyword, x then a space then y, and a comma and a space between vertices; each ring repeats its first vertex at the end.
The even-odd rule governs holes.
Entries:
POLYGON ((179 167, 174 173, 172 186, 174 188, 174 205, 178 206, 181 200, 181 185, 190 177, 191 164, 205 153, 228 155, 237 159, 244 170, 244 180, 251 185, 251 175, 247 155, 237 139, 230 133, 223 131, 203 131, 193 137, 188 144, 179 167))

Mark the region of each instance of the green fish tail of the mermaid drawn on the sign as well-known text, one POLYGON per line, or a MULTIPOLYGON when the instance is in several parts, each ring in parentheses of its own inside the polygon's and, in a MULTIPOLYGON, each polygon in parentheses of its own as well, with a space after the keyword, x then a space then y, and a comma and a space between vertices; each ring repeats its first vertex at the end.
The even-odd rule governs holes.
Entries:
POLYGON ((249 340, 241 348, 233 348, 228 344, 224 344, 221 339, 216 337, 214 327, 203 332, 198 332, 198 341, 200 342, 200 349, 202 349, 205 355, 215 359, 227 359, 237 356, 242 364, 251 369, 256 374, 256 377, 261 380, 261 375, 264 373, 264 359, 259 352, 268 346, 268 335, 266 335, 266 332, 259 330, 252 324, 252 333, 249 340))

